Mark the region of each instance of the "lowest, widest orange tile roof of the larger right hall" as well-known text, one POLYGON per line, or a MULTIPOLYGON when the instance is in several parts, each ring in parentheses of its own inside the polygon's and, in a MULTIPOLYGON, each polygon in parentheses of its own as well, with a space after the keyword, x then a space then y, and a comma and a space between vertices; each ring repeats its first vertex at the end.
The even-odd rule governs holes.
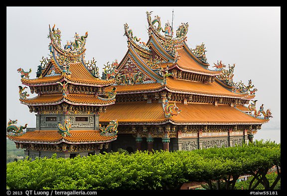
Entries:
POLYGON ((164 117, 161 103, 145 101, 119 102, 107 106, 106 113, 100 113, 100 123, 118 120, 120 124, 262 124, 268 120, 254 118, 229 105, 176 103, 182 110, 170 119, 164 117))

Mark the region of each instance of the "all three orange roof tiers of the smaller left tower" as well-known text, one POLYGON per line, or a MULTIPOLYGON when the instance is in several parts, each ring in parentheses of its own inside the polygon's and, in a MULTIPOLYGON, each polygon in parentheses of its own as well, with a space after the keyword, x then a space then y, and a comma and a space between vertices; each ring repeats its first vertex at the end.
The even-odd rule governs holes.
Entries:
MULTIPOLYGON (((49 44, 50 58, 42 57, 41 65, 38 66, 36 73, 37 78, 30 79, 28 72, 24 72, 21 68, 18 69, 18 72, 21 72, 22 84, 29 86, 31 93, 37 93, 37 96, 27 98, 29 95, 23 92, 27 87, 19 86, 20 103, 28 105, 31 112, 40 114, 67 114, 69 112, 74 114, 90 114, 93 112, 96 114, 102 109, 105 111, 105 106, 114 104, 115 90, 107 95, 107 98, 98 96, 98 93, 102 92, 103 87, 112 85, 115 80, 112 77, 108 79, 100 78, 99 68, 96 66, 95 61, 85 61, 85 43, 88 32, 83 36, 76 33, 75 41, 67 41, 64 48, 61 47, 61 31, 55 29, 55 25, 52 29, 49 26, 48 37, 51 40, 49 44), (62 104, 64 102, 66 104, 62 104), (73 105, 75 108, 73 111, 61 111, 59 105, 62 105, 63 108, 67 105, 73 105), (36 107, 41 107, 41 109, 35 109, 36 107), (86 113, 78 111, 81 109, 86 113)), ((45 130, 45 128, 42 128, 43 130, 29 129, 26 132, 20 132, 22 126, 17 127, 16 124, 13 124, 16 121, 10 120, 8 122, 7 137, 17 143, 96 144, 111 142, 117 138, 116 134, 103 134, 97 128, 95 128, 96 130, 91 130, 93 128, 77 130, 77 128, 71 129, 71 124, 69 124, 69 127, 65 127, 68 122, 70 123, 67 119, 65 119, 65 126, 58 124, 58 130, 51 130, 52 128, 45 130), (59 131, 61 129, 67 133, 62 134, 59 131)), ((53 126, 56 123, 54 122, 53 126)))

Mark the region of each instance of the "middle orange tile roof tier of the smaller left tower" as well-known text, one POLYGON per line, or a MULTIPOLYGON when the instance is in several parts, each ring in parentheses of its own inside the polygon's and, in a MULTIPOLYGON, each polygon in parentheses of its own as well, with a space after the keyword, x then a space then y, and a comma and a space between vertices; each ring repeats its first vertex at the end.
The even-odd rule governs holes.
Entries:
POLYGON ((92 104, 92 105, 110 105, 113 104, 115 100, 100 100, 95 95, 85 95, 85 94, 68 94, 64 99, 62 94, 42 94, 31 99, 20 99, 21 103, 26 105, 45 105, 45 104, 58 104, 63 101, 69 102, 71 104, 92 104))

